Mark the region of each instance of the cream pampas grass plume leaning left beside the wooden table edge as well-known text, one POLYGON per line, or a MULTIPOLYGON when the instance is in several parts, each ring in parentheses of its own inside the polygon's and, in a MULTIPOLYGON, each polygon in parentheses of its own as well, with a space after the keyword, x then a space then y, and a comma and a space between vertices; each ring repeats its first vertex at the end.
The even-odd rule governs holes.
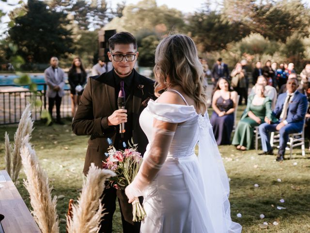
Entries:
POLYGON ((56 213, 57 197, 51 198, 47 173, 39 165, 35 151, 29 143, 27 135, 21 141, 21 161, 27 180, 24 185, 30 194, 31 213, 43 233, 59 233, 59 222, 56 213))

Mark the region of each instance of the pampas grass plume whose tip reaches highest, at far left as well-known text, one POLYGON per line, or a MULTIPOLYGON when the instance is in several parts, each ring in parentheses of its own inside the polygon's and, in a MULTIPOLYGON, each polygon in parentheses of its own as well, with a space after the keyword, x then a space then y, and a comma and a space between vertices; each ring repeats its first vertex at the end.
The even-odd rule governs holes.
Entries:
POLYGON ((21 169, 21 157, 20 149, 22 146, 22 141, 26 135, 31 135, 33 121, 31 120, 31 104, 28 104, 19 120, 17 131, 14 135, 14 150, 12 153, 13 166, 12 166, 12 180, 17 181, 18 175, 21 169))

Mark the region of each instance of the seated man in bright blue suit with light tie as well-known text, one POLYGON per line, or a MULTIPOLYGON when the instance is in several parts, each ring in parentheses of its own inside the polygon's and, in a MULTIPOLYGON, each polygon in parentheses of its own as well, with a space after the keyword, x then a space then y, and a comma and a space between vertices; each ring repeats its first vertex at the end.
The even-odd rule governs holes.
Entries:
POLYGON ((304 126, 304 118, 307 111, 307 97, 297 91, 297 79, 289 79, 286 83, 287 91, 280 94, 273 114, 279 119, 278 122, 265 122, 259 126, 263 152, 259 155, 273 154, 269 143, 269 132, 279 131, 280 143, 277 161, 284 160, 285 147, 290 133, 301 132, 304 126))

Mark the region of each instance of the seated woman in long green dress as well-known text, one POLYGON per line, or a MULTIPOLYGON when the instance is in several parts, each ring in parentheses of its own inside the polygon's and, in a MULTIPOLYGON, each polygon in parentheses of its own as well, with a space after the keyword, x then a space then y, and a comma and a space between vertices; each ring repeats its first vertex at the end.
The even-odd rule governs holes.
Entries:
POLYGON ((252 148, 253 130, 255 126, 263 122, 277 122, 278 119, 272 115, 271 100, 264 96, 265 87, 255 85, 255 95, 248 97, 248 105, 241 117, 237 129, 233 135, 233 145, 238 150, 249 150, 252 148))

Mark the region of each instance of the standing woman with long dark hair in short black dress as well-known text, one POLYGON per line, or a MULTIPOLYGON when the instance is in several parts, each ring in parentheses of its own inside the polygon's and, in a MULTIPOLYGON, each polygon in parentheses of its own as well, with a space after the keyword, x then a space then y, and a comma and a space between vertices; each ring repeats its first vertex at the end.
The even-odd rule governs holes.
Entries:
POLYGON ((68 82, 70 84, 71 91, 70 96, 72 117, 74 117, 76 114, 76 109, 84 90, 83 86, 86 83, 86 76, 87 74, 82 65, 81 59, 76 57, 73 59, 72 67, 68 72, 68 82))

